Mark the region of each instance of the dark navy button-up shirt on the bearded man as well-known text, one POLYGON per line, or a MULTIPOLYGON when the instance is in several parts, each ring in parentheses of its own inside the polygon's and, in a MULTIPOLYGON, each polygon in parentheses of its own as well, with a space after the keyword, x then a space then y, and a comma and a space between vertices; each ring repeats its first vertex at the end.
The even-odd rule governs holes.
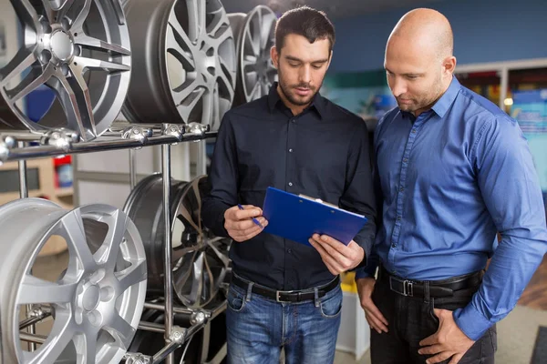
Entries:
MULTIPOLYGON (((212 192, 201 214, 205 225, 227 236, 226 209, 238 203, 263 207, 266 188, 275 187, 365 215, 368 222, 354 240, 367 256, 376 214, 365 122, 319 94, 293 116, 276 86, 222 118, 212 156, 212 192)), ((335 278, 315 248, 264 232, 234 241, 230 258, 239 276, 274 289, 312 288, 335 278)))

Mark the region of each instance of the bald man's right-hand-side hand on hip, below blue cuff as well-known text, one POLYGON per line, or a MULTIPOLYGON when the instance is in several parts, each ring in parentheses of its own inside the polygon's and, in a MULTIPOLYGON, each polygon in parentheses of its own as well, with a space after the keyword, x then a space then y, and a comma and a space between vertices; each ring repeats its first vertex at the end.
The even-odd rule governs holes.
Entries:
POLYGON ((475 341, 468 338, 454 321, 452 311, 434 308, 439 318, 439 329, 427 339, 419 342, 418 354, 435 355, 426 360, 428 364, 439 363, 452 358, 449 364, 457 364, 475 341))

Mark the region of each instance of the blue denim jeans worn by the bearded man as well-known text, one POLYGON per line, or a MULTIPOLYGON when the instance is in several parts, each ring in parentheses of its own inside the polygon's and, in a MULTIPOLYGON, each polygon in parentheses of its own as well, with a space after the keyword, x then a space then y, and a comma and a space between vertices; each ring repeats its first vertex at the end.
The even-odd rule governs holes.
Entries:
POLYGON ((286 364, 334 362, 340 286, 315 300, 279 303, 232 284, 227 301, 229 364, 277 364, 282 348, 286 364))

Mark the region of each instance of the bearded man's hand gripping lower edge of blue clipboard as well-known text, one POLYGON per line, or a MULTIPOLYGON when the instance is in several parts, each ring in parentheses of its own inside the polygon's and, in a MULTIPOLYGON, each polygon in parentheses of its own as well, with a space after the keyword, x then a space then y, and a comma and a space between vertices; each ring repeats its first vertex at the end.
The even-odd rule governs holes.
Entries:
POLYGON ((353 240, 346 246, 335 238, 314 234, 309 242, 321 255, 326 268, 335 276, 356 268, 365 258, 365 250, 353 240))

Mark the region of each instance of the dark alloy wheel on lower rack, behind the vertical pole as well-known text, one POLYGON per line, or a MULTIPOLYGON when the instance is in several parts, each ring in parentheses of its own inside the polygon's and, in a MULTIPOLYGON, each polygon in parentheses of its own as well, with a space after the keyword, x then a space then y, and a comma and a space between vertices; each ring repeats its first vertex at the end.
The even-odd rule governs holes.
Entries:
MULTIPOLYGON (((164 227, 162 178, 151 175, 131 191, 124 211, 137 222, 149 264, 149 296, 163 294, 164 227)), ((216 297, 229 273, 230 240, 217 238, 201 222, 201 200, 210 189, 207 177, 189 183, 171 181, 173 288, 187 307, 202 308, 216 297)))

